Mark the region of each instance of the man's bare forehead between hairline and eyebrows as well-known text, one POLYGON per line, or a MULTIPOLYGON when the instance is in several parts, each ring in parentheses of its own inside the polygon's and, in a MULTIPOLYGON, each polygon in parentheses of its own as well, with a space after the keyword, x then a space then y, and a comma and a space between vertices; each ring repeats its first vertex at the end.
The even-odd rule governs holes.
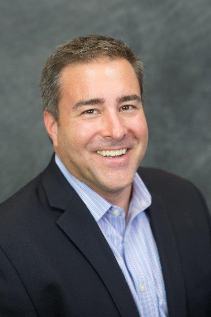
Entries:
POLYGON ((61 72, 61 100, 103 98, 116 99, 121 95, 140 95, 137 76, 125 60, 97 60, 66 66, 61 72))

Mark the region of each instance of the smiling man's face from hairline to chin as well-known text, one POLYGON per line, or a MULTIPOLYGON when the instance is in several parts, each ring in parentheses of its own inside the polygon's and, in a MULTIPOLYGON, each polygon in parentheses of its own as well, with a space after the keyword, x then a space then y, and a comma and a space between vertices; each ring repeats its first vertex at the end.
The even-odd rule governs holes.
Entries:
POLYGON ((93 190, 122 191, 131 185, 148 141, 132 66, 125 59, 76 63, 62 70, 61 82, 55 152, 93 190))

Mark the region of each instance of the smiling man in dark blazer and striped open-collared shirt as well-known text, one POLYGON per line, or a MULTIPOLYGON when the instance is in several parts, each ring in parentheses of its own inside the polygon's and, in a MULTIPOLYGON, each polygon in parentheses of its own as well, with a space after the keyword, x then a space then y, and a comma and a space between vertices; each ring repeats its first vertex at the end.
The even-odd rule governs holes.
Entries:
POLYGON ((188 181, 138 169, 143 74, 130 48, 104 36, 75 38, 47 60, 55 153, 1 204, 0 316, 210 316, 204 199, 188 181))

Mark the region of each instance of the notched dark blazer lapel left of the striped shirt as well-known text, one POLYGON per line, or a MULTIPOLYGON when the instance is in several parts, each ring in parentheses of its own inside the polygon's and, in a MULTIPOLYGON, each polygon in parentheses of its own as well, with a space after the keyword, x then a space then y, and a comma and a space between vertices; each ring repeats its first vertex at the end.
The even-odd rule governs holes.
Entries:
POLYGON ((138 317, 125 277, 98 224, 57 167, 54 156, 42 175, 52 207, 65 210, 57 224, 80 249, 110 293, 122 317, 138 317))

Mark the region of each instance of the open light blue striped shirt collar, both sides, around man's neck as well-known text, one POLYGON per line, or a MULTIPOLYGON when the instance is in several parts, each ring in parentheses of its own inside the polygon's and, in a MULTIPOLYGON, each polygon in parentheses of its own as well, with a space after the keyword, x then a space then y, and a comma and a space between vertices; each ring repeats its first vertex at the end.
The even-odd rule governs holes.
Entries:
MULTIPOLYGON (((69 171, 67 171, 66 167, 56 154, 55 162, 64 177, 67 179, 68 183, 74 188, 74 190, 86 204, 86 207, 93 215, 95 221, 99 221, 101 217, 103 217, 104 214, 113 207, 113 205, 109 203, 105 198, 101 197, 98 193, 93 191, 87 184, 85 184, 78 178, 75 178, 69 171)), ((137 172, 135 174, 132 186, 132 197, 129 206, 129 215, 132 210, 135 209, 137 212, 140 212, 148 208, 151 204, 150 193, 137 172)))

